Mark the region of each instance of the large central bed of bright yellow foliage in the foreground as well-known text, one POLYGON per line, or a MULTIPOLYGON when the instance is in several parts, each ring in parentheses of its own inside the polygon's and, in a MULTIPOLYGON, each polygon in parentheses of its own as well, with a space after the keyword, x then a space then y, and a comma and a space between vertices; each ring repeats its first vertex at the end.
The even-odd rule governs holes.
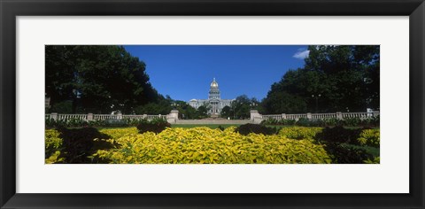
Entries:
POLYGON ((95 156, 119 164, 293 164, 330 163, 322 145, 284 135, 240 135, 235 128, 166 128, 158 135, 132 128, 104 129, 119 149, 95 156))

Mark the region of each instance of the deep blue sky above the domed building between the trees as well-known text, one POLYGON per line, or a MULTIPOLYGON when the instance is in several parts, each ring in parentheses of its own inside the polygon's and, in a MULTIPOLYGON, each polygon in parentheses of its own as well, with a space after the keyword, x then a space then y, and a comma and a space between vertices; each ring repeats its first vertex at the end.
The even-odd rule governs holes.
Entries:
POLYGON ((146 64, 152 86, 164 96, 205 99, 213 78, 221 98, 240 95, 261 100, 289 69, 304 66, 303 45, 130 45, 146 64))

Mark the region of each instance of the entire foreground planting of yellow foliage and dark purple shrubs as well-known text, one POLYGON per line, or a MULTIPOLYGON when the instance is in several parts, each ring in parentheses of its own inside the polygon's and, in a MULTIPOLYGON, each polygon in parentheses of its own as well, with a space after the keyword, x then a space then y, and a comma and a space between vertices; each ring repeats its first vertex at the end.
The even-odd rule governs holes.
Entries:
MULTIPOLYGON (((282 128, 277 135, 241 135, 235 127, 166 128, 158 134, 139 134, 137 128, 50 129, 46 163, 379 163, 379 146, 324 140, 326 129, 282 128)), ((368 139, 379 135, 368 132, 359 131, 368 139)))

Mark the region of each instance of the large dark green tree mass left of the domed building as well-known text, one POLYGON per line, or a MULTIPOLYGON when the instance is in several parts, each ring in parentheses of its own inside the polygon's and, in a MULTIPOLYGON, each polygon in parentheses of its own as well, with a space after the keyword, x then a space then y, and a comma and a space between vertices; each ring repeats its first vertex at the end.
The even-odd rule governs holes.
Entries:
POLYGON ((46 46, 46 94, 52 105, 70 100, 73 111, 134 112, 161 99, 145 64, 120 46, 46 46))

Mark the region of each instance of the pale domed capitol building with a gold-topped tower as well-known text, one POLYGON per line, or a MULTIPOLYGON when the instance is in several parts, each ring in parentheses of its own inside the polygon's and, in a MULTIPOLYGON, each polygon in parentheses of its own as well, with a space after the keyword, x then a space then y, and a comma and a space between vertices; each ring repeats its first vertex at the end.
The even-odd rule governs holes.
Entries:
POLYGON ((213 79, 210 85, 210 91, 208 92, 208 99, 191 99, 189 105, 195 109, 199 108, 202 105, 208 110, 208 114, 212 117, 218 117, 221 110, 225 106, 230 106, 232 101, 235 99, 221 99, 219 83, 213 79))

